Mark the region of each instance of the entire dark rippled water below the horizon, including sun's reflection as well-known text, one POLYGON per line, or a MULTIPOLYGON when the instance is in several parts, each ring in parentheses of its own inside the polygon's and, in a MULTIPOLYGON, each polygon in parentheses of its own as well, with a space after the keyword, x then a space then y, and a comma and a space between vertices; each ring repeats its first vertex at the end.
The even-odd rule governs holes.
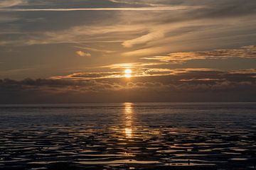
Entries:
POLYGON ((255 169, 256 103, 0 106, 0 169, 255 169))

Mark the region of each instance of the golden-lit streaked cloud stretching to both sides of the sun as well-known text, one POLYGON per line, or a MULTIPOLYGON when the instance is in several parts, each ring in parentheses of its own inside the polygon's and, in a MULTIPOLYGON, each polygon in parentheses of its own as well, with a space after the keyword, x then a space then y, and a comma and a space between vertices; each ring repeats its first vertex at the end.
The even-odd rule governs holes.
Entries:
MULTIPOLYGON (((110 70, 109 72, 77 72, 73 74, 69 74, 66 76, 57 76, 51 77, 51 79, 70 79, 70 80, 92 80, 92 79, 121 79, 125 78, 124 70, 126 67, 121 67, 116 69, 116 67, 112 67, 114 70, 110 70)), ((132 67, 127 67, 132 68, 132 67)), ((191 73, 200 73, 204 75, 204 77, 200 77, 198 79, 213 79, 211 77, 211 73, 215 74, 214 79, 218 79, 221 74, 225 74, 225 72, 220 71, 218 69, 208 69, 208 68, 186 68, 186 69, 157 69, 157 68, 137 68, 132 72, 132 78, 142 79, 143 77, 151 77, 151 79, 155 79, 154 77, 166 77, 166 76, 178 76, 178 75, 186 75, 191 73), (204 73, 204 74, 203 74, 204 73), (208 74, 208 75, 207 75, 208 74)), ((253 76, 256 74, 255 69, 247 69, 247 70, 238 70, 238 71, 230 71, 228 74, 252 74, 253 76)), ((194 79, 194 78, 193 78, 194 79)), ((191 79, 189 79, 191 80, 191 79)), ((183 79, 183 81, 185 81, 183 79)))

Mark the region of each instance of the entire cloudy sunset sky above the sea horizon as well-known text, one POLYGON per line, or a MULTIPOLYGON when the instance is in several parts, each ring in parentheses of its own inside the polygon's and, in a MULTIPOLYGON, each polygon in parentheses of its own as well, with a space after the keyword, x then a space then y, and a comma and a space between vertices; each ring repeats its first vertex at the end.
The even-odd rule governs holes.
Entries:
POLYGON ((255 0, 1 0, 0 103, 256 101, 255 21, 255 0))

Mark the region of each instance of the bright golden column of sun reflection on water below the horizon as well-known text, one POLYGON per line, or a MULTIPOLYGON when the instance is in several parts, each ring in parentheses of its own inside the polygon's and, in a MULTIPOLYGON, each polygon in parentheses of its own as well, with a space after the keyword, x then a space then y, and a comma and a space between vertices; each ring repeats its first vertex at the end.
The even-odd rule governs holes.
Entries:
POLYGON ((133 103, 124 103, 125 129, 124 133, 127 138, 132 138, 132 119, 133 119, 133 103))

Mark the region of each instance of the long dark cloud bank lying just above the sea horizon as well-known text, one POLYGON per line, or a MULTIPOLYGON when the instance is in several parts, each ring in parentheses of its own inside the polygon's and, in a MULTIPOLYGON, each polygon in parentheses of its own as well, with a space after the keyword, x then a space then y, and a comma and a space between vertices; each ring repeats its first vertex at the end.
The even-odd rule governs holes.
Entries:
POLYGON ((127 79, 0 80, 0 103, 256 101, 256 73, 191 71, 127 79))

